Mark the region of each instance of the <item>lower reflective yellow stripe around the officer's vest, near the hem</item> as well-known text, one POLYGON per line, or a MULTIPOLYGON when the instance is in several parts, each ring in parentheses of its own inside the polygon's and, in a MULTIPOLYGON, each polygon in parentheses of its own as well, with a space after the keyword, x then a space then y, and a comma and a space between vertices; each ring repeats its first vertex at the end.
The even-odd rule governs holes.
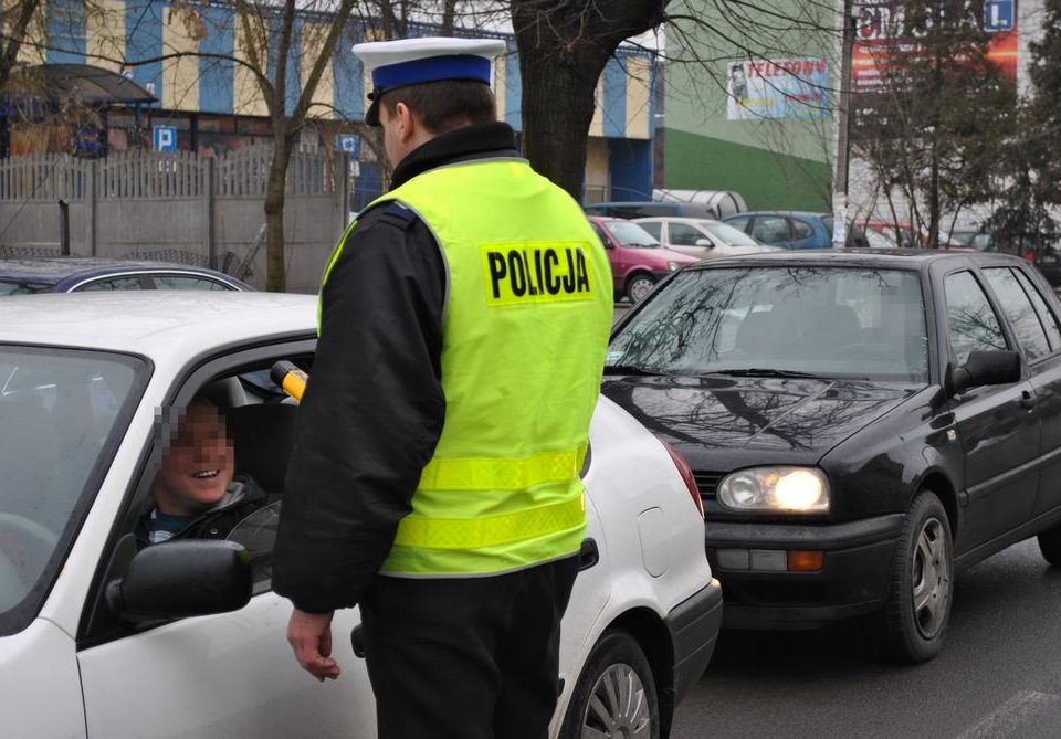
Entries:
POLYGON ((398 524, 395 543, 429 549, 481 549, 556 534, 585 521, 582 495, 549 506, 487 518, 427 518, 410 514, 398 524))

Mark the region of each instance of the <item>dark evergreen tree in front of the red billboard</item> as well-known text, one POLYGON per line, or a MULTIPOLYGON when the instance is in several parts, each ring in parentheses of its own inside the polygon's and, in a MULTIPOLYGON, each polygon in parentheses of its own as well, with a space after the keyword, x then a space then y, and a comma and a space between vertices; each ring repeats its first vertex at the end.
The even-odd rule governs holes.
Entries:
POLYGON ((906 220, 936 247, 963 209, 990 199, 1016 88, 989 60, 988 34, 965 0, 904 0, 883 28, 882 86, 855 103, 852 146, 893 217, 897 190, 906 220))

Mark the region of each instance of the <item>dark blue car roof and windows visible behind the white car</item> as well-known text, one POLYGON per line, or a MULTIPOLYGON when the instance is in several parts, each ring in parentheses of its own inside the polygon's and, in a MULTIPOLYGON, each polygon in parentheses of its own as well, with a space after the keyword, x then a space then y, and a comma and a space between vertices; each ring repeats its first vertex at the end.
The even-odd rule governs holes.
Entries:
POLYGON ((223 272, 147 260, 86 256, 0 260, 0 296, 139 289, 254 288, 223 272))

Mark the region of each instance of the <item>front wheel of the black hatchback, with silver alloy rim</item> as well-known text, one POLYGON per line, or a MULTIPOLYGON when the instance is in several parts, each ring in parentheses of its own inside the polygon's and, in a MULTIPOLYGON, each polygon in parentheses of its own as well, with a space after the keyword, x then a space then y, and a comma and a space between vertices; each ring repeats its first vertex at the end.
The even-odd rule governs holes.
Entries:
POLYGON ((871 619, 871 647, 884 658, 916 664, 943 648, 954 593, 954 546, 947 511, 922 490, 895 546, 884 609, 871 619))

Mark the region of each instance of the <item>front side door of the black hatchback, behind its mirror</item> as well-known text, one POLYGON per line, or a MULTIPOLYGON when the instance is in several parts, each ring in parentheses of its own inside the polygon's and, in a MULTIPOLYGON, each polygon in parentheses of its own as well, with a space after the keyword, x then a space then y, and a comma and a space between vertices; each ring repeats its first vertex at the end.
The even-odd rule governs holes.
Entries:
MULTIPOLYGON (((1012 349, 980 282, 970 270, 944 279, 949 350, 955 367, 971 351, 1012 349)), ((971 388, 952 399, 952 412, 965 454, 965 524, 956 537, 966 551, 1010 531, 1031 511, 1039 475, 1040 422, 1031 383, 971 388)))

